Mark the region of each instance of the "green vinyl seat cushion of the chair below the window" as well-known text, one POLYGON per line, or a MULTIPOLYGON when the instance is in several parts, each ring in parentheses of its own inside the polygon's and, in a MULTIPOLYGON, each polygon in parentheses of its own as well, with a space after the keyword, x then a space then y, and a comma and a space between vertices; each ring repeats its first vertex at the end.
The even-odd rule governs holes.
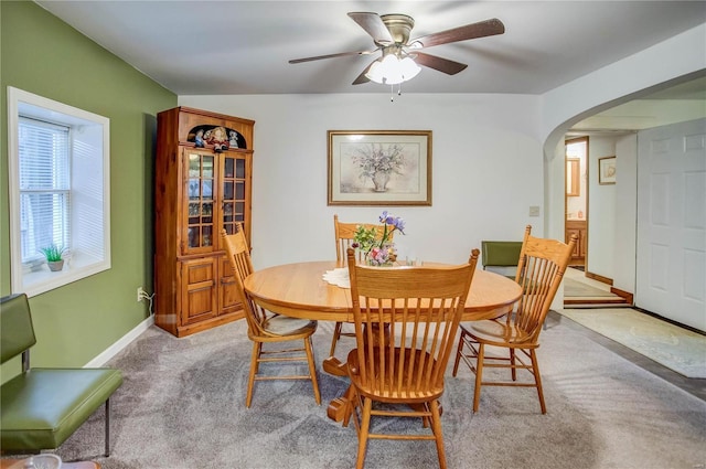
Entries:
POLYGON ((0 447, 60 447, 122 384, 111 369, 32 369, 0 390, 0 447))

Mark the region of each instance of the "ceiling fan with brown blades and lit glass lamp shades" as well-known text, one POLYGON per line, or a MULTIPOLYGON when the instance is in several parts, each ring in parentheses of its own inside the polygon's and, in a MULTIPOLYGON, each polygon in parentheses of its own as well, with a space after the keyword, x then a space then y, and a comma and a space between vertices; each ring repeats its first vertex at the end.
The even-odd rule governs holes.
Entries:
POLYGON ((376 47, 368 51, 340 52, 336 54, 317 55, 313 57, 295 58, 290 64, 319 61, 322 58, 343 57, 347 55, 371 55, 382 51, 382 56, 373 61, 355 78, 353 85, 360 85, 374 81, 376 83, 396 84, 406 82, 418 72, 418 65, 443 72, 448 75, 456 75, 468 65, 437 55, 420 52, 421 49, 435 45, 448 44, 451 42, 467 41, 470 39, 485 38, 489 35, 502 34, 505 25, 498 19, 480 21, 464 26, 453 28, 434 34, 427 34, 409 41, 409 33, 415 25, 415 20, 406 14, 383 14, 371 12, 351 12, 349 17, 365 30, 372 38, 376 47), (402 75, 381 75, 379 65, 387 58, 388 62, 399 63, 402 75), (396 58, 396 60, 395 60, 396 58), (406 67, 406 68, 405 68, 406 67), (405 75, 406 74, 406 75, 405 75))

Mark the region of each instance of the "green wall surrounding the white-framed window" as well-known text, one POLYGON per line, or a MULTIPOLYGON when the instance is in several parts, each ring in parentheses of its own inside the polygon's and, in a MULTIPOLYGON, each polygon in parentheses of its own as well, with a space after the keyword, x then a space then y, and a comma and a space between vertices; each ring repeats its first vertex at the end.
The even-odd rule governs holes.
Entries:
MULTIPOLYGON (((7 87, 110 119, 111 268, 30 299, 33 366, 83 366, 148 318, 157 113, 176 95, 29 1, 0 2, 0 295, 9 295, 7 87)), ((4 382, 18 361, 0 369, 4 382)))

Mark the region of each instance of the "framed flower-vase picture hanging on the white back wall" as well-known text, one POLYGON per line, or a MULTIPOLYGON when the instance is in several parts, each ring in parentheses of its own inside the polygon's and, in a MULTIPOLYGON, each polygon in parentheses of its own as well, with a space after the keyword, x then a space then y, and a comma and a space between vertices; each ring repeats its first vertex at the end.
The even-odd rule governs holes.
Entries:
POLYGON ((431 205, 431 130, 329 130, 329 205, 431 205))

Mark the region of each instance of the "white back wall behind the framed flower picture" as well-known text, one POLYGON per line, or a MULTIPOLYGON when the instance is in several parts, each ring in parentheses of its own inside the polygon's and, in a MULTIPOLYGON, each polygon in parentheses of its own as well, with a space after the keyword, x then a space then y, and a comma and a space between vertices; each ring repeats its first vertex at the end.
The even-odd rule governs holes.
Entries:
POLYGON ((400 255, 463 262, 481 239, 543 236, 539 98, 379 94, 180 96, 180 106, 254 119, 253 262, 256 268, 335 256, 333 214, 407 222, 400 255), (328 206, 327 130, 432 131, 431 206, 328 206))

